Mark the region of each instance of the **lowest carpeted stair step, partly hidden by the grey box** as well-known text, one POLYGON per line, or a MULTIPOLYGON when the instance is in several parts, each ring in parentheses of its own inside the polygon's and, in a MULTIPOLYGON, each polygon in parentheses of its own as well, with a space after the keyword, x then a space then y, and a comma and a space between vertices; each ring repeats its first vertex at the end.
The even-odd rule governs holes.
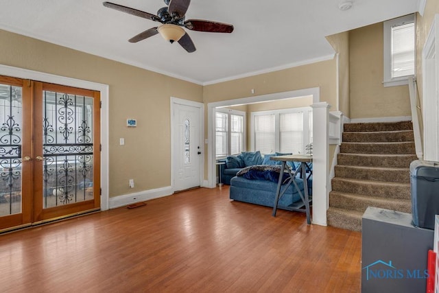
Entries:
POLYGON ((348 211, 336 207, 329 207, 327 210, 327 224, 346 230, 361 231, 362 217, 361 211, 348 211))

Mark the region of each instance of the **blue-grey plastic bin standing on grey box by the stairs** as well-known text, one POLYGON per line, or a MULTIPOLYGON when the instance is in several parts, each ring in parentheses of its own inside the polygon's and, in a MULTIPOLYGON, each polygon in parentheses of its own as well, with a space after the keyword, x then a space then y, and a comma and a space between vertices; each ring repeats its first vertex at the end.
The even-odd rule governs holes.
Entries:
POLYGON ((416 160, 410 163, 413 224, 434 229, 439 215, 439 162, 416 160))

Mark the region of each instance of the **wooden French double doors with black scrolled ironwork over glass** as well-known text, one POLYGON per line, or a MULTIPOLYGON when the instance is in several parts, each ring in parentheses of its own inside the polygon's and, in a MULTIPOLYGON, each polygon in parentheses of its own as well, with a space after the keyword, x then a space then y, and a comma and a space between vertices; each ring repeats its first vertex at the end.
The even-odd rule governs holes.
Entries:
POLYGON ((99 209, 99 99, 0 76, 0 231, 99 209))

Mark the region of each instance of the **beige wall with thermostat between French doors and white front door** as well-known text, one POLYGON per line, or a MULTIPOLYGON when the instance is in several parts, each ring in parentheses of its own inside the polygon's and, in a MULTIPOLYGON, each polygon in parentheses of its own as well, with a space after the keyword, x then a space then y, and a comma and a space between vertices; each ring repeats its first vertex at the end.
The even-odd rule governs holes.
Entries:
POLYGON ((3 65, 109 85, 110 197, 171 185, 170 97, 202 102, 202 86, 3 30, 0 52, 3 65))

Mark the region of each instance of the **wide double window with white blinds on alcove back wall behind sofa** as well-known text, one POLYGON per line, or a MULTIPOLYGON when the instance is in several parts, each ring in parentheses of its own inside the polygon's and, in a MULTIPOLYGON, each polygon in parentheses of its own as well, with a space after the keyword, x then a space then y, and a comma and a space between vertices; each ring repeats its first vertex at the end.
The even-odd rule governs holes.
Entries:
POLYGON ((252 150, 262 154, 305 154, 312 142, 312 109, 294 108, 252 113, 252 150))

